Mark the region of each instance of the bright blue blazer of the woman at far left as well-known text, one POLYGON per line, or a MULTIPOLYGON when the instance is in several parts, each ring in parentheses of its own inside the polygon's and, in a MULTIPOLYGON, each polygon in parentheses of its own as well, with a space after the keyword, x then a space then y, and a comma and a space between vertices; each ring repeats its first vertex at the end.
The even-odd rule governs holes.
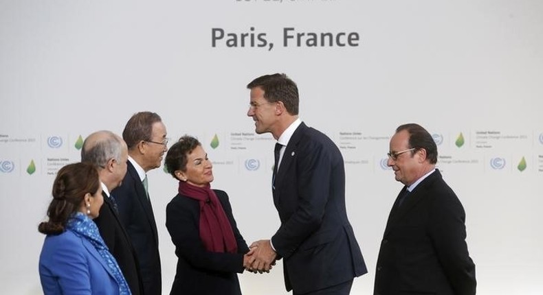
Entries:
POLYGON ((39 272, 43 294, 119 294, 107 263, 85 237, 65 231, 47 235, 39 272))

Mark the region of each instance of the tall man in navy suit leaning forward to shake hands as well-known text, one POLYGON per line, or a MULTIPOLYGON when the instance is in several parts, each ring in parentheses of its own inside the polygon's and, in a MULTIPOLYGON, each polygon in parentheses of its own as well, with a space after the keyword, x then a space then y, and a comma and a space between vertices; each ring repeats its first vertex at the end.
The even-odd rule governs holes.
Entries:
POLYGON ((298 87, 285 74, 264 75, 247 88, 256 133, 277 140, 272 192, 281 221, 271 239, 252 244, 250 269, 266 271, 283 258, 293 295, 348 294, 367 270, 347 219, 342 154, 300 121, 298 87))

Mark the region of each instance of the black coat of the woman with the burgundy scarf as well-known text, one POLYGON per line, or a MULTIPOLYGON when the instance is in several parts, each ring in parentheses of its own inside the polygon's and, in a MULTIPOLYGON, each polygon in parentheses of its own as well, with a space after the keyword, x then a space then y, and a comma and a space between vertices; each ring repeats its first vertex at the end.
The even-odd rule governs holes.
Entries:
POLYGON ((199 233, 200 204, 187 196, 175 196, 166 206, 166 227, 170 232, 177 272, 170 294, 241 294, 236 272, 243 272, 243 254, 249 251, 236 226, 228 195, 214 190, 230 220, 236 237, 237 253, 209 252, 199 233))

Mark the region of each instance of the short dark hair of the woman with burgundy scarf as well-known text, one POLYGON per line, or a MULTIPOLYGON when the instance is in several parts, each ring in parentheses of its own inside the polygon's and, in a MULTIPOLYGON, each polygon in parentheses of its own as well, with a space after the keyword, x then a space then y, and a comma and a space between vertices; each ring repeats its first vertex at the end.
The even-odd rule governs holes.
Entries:
POLYGON ((191 137, 190 135, 184 135, 179 138, 177 143, 174 143, 170 147, 168 153, 166 154, 164 165, 166 165, 168 173, 172 174, 173 178, 177 179, 175 176, 175 172, 177 170, 186 172, 188 162, 187 155, 195 150, 195 148, 199 145, 201 145, 201 143, 198 141, 198 139, 191 137))

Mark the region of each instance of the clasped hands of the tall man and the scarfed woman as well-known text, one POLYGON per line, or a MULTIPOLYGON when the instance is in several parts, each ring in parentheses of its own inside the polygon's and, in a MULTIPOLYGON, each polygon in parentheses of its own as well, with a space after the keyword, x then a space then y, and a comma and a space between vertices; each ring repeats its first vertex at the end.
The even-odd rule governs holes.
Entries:
POLYGON ((261 274, 269 272, 272 266, 275 266, 277 253, 272 248, 272 243, 269 239, 255 241, 249 248, 249 252, 243 256, 243 267, 245 270, 261 274))

